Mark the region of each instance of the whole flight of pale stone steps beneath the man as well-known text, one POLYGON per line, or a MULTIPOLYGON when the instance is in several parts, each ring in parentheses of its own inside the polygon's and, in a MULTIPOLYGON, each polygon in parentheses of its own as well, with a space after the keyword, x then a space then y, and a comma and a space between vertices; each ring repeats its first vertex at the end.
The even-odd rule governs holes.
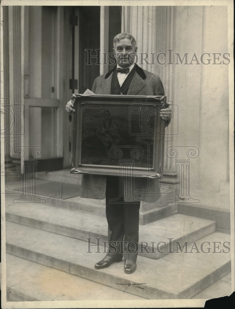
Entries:
MULTIPOLYGON (((47 177, 39 183, 49 180, 47 177)), ((61 175, 57 180, 65 181, 61 175)), ((12 184, 11 189, 14 186, 19 184, 12 184)), ((49 272, 50 280, 61 280, 65 290, 66 286, 79 286, 85 280, 100 291, 93 295, 97 299, 192 298, 230 272, 230 253, 223 247, 223 243, 228 246, 230 235, 216 231, 215 221, 178 213, 175 203, 157 209, 142 205, 137 269, 125 274, 124 261, 107 269, 94 269, 107 250, 104 201, 40 196, 45 203, 31 203, 30 197, 23 203, 12 203, 18 195, 20 192, 6 194, 6 266, 22 264, 23 259, 37 276, 49 272), (215 242, 220 242, 219 248, 215 248, 215 242), (204 253, 208 247, 211 252, 204 253), (220 254, 214 253, 221 249, 220 254)), ((54 295, 48 289, 43 292, 29 273, 21 284, 10 277, 7 295, 15 301, 73 300, 79 295, 79 291, 76 295, 69 291, 54 295), (36 284, 38 290, 30 289, 29 282, 36 284)))

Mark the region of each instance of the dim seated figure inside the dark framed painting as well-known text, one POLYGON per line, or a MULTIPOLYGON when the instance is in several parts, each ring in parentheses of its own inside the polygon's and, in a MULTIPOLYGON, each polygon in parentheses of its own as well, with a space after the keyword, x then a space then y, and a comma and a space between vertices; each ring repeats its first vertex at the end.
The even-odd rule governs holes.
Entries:
POLYGON ((103 112, 103 117, 98 122, 96 136, 103 143, 107 155, 109 155, 110 148, 120 141, 120 135, 108 109, 103 112))

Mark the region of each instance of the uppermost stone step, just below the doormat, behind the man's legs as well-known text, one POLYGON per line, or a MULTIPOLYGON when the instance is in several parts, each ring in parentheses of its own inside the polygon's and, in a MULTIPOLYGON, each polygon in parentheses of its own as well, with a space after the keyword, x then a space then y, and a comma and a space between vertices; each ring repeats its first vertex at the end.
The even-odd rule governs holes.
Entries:
MULTIPOLYGON (((48 180, 37 179, 37 184, 44 184, 48 180)), ((20 181, 13 182, 5 188, 6 204, 21 203, 21 204, 48 204, 58 208, 76 210, 79 212, 94 214, 105 217, 105 200, 82 198, 80 196, 71 197, 65 200, 56 197, 47 197, 37 194, 29 194, 23 197, 20 191, 22 184, 20 181), (15 191, 14 191, 15 190, 15 191)), ((168 217, 178 212, 178 206, 175 203, 166 204, 166 199, 169 194, 162 194, 161 198, 156 203, 141 203, 140 207, 140 225, 145 225, 149 222, 154 222, 158 219, 168 217)))

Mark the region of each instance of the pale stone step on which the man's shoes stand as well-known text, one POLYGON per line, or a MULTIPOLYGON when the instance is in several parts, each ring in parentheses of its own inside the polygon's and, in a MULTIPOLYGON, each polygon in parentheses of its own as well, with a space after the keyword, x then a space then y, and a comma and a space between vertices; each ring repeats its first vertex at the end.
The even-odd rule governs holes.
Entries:
POLYGON ((94 247, 88 253, 85 241, 6 222, 7 253, 148 299, 192 298, 229 273, 229 250, 221 247, 226 241, 228 234, 215 232, 195 242, 191 253, 172 253, 159 260, 139 256, 136 272, 125 274, 124 262, 94 269, 105 253, 94 247), (218 241, 216 250, 224 251, 203 253, 218 241), (204 242, 209 244, 203 247, 204 242))

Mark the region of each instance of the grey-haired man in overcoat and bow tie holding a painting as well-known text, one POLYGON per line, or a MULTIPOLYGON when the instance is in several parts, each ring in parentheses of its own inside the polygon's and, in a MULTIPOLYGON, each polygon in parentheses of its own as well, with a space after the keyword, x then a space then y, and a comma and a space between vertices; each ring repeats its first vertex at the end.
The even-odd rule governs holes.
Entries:
MULTIPOLYGON (((95 94, 164 95, 160 77, 142 70, 135 64, 137 47, 136 40, 131 34, 116 35, 113 39, 113 51, 117 66, 107 74, 95 79, 92 87, 95 94)), ((67 103, 66 111, 69 113, 75 111, 72 101, 67 103)), ((162 109, 160 116, 168 124, 170 109, 162 109)), ((159 180, 136 177, 134 179, 134 196, 128 194, 120 196, 120 190, 125 191, 125 185, 119 177, 106 176, 104 178, 103 176, 84 175, 82 190, 84 193, 81 194, 81 197, 90 198, 103 198, 102 192, 105 192, 109 248, 107 255, 95 264, 95 268, 109 267, 113 262, 120 262, 124 256, 124 272, 133 273, 136 270, 138 255, 140 200, 146 202, 158 200, 160 197, 159 180), (100 177, 99 181, 98 177, 100 177), (94 186, 97 184, 99 184, 99 190, 97 189, 95 193, 94 186), (114 200, 118 200, 118 203, 115 203, 114 200)))

